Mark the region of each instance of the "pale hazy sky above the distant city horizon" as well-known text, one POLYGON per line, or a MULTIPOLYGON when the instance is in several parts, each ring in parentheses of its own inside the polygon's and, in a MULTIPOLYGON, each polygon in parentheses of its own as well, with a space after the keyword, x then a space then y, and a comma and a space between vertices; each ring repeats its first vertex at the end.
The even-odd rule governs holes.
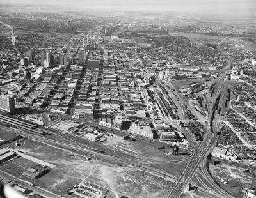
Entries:
MULTIPOLYGON (((157 11, 208 15, 255 15, 256 0, 0 0, 7 4, 68 6, 70 9, 106 11, 157 11)), ((0 6, 1 6, 0 4, 0 6)), ((256 17, 256 16, 255 16, 256 17)))

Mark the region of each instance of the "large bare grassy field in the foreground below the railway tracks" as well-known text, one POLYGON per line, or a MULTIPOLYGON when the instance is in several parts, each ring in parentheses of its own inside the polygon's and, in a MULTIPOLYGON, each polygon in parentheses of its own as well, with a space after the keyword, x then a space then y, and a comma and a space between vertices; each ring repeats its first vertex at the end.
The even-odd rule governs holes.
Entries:
POLYGON ((25 169, 36 165, 35 162, 24 158, 17 158, 12 162, 7 162, 1 165, 1 169, 51 190, 56 194, 61 194, 61 192, 68 193, 73 185, 83 179, 109 189, 116 197, 119 195, 162 197, 172 185, 170 181, 161 180, 156 176, 147 174, 147 172, 130 167, 107 164, 95 158, 94 160, 86 160, 81 156, 72 155, 72 153, 28 139, 18 148, 21 151, 26 151, 27 155, 54 164, 56 167, 35 180, 22 176, 22 172, 25 169))

